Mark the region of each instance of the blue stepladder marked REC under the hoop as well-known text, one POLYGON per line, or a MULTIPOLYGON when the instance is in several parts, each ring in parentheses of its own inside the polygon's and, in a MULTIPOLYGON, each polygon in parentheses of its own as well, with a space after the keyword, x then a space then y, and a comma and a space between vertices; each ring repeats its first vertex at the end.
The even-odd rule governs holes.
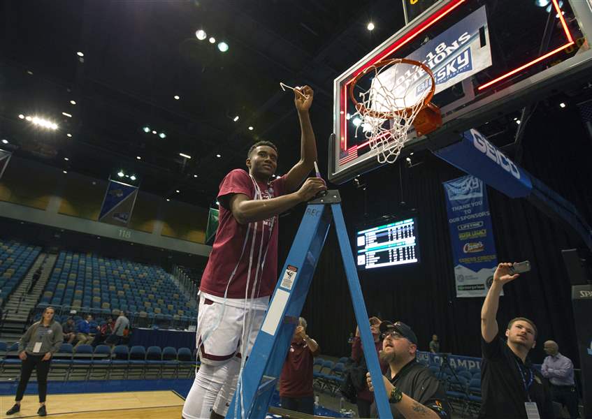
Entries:
MULTIPOLYGON (((298 317, 332 221, 335 224, 368 372, 373 383, 382 383, 368 312, 343 218, 340 194, 336 190, 330 190, 324 197, 310 201, 306 207, 286 262, 280 270, 261 329, 240 372, 226 418, 265 418, 268 414, 270 400, 277 388, 294 329, 298 325, 298 317)), ((374 387, 380 418, 392 418, 384 385, 374 387)))

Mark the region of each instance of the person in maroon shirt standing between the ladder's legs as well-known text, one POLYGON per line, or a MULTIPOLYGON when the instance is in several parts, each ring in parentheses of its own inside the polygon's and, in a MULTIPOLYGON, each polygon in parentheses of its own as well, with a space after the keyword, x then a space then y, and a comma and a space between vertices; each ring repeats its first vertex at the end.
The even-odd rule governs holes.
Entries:
POLYGON ((280 397, 283 409, 315 414, 312 364, 319 353, 321 353, 319 344, 306 334, 305 319, 299 318, 280 375, 280 397))

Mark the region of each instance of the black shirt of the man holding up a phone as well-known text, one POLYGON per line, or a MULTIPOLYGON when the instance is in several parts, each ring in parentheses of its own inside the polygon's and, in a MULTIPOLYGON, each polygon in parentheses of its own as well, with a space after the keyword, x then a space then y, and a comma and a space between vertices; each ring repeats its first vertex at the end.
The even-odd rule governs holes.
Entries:
POLYGON ((532 385, 528 390, 530 402, 536 402, 541 419, 553 419, 553 404, 547 383, 537 372, 530 360, 526 363, 512 352, 501 337, 489 344, 481 338, 483 360, 481 364, 482 404, 479 419, 526 419, 525 383, 532 385), (523 381, 524 378, 524 381, 523 381))

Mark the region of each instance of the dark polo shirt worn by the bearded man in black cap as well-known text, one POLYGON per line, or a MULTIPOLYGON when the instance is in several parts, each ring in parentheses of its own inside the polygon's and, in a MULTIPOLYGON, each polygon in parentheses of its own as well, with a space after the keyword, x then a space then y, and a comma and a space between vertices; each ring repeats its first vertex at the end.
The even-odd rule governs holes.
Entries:
MULTIPOLYGON (((435 378, 428 367, 419 364, 416 360, 412 360, 401 368, 396 376, 391 377, 390 375, 391 370, 389 369, 387 378, 404 395, 411 397, 428 409, 432 409, 442 419, 452 418, 446 392, 438 378, 435 378)), ((390 406, 394 419, 405 419, 405 416, 399 413, 396 404, 391 403, 390 406)), ((378 417, 375 402, 370 407, 370 415, 373 418, 378 417)))

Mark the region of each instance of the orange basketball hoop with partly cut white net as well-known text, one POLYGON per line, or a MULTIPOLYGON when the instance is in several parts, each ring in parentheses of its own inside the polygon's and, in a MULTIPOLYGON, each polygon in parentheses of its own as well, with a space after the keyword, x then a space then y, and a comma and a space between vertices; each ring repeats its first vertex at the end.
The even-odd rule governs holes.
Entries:
MULTIPOLYGON (((358 89, 360 87, 358 86, 358 89)), ((394 163, 408 140, 411 126, 417 136, 431 133, 442 125, 438 106, 431 103, 435 79, 426 64, 411 59, 379 61, 361 71, 349 87, 361 128, 379 163, 394 163), (364 76, 373 75, 370 88, 359 93, 354 89, 364 76)))

